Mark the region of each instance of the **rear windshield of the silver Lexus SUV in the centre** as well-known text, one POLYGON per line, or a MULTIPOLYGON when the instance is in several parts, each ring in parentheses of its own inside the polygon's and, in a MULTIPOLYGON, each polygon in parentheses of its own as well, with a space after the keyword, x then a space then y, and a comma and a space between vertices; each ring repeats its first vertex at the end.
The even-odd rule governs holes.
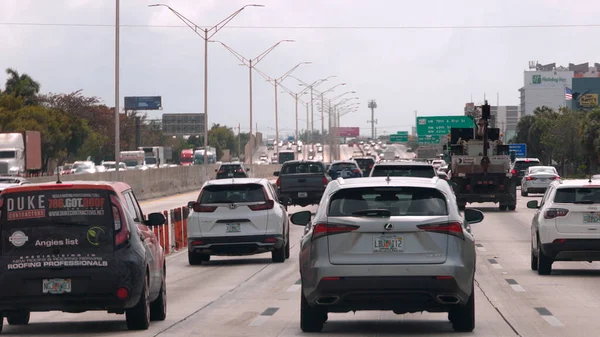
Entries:
POLYGON ((331 197, 329 216, 386 209, 392 216, 448 215, 444 194, 424 187, 363 187, 343 189, 331 197))

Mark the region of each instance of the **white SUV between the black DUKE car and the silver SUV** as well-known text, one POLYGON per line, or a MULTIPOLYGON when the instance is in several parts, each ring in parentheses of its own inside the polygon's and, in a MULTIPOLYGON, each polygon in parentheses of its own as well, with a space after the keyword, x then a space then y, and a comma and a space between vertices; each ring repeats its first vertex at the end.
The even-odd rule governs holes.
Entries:
POLYGON ((290 257, 288 215, 267 179, 206 182, 187 224, 188 260, 199 265, 211 255, 271 252, 273 262, 290 257))

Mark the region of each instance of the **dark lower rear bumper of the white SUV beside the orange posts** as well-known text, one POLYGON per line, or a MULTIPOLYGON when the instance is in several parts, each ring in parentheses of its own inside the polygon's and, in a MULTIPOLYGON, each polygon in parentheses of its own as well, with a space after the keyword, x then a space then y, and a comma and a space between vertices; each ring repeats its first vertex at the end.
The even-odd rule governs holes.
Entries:
POLYGON ((283 235, 244 235, 188 238, 188 251, 208 255, 252 255, 280 249, 283 235))

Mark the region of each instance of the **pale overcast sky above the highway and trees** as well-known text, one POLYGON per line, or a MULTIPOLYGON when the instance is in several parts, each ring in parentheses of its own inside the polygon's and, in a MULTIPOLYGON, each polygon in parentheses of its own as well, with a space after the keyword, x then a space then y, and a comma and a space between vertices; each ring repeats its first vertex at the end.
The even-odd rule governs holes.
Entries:
MULTIPOLYGON (((200 26, 212 26, 252 3, 162 1, 200 26)), ((517 90, 528 61, 559 65, 600 61, 594 59, 600 54, 594 38, 599 27, 377 28, 594 24, 597 11, 589 10, 595 6, 591 0, 255 1, 266 7, 247 8, 214 39, 252 58, 279 40, 296 40, 281 44, 257 68, 279 77, 297 63, 310 61, 293 75, 306 82, 336 75, 319 89, 345 82, 329 97, 356 91, 346 97, 358 96, 360 110, 342 117, 341 125, 358 126, 365 135, 370 134, 370 99, 378 104, 379 134, 409 131, 414 111, 430 116, 462 114, 471 96, 481 102, 485 93, 496 104, 499 94, 501 105, 518 104, 517 90)), ((189 28, 164 27, 182 23, 164 7, 147 7, 151 3, 121 0, 121 97, 160 95, 162 112, 202 112, 203 40, 189 28)), ((99 96, 113 106, 114 5, 114 0, 0 0, 0 67, 29 74, 44 93, 83 89, 85 95, 99 96)), ((209 123, 236 127, 240 123, 242 131, 248 131, 248 69, 219 44, 209 44, 208 53, 209 123)), ((5 79, 0 73, 1 87, 5 79)), ((292 78, 284 85, 302 89, 292 78)), ((153 118, 159 115, 150 113, 153 118)), ((274 115, 273 86, 255 73, 254 121, 259 131, 274 134, 274 115)), ((292 134, 294 101, 287 94, 279 95, 279 116, 280 133, 292 134)), ((304 108, 300 118, 304 129, 304 108)), ((317 127, 320 117, 315 117, 317 127)))

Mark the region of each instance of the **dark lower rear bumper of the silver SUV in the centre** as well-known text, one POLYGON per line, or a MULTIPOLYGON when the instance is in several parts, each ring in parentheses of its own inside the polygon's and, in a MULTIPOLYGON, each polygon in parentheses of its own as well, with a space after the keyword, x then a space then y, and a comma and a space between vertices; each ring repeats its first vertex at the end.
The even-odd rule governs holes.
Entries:
POLYGON ((471 294, 462 290, 454 278, 370 276, 321 280, 316 290, 306 295, 311 306, 328 312, 393 310, 407 313, 445 312, 464 305, 471 294))

